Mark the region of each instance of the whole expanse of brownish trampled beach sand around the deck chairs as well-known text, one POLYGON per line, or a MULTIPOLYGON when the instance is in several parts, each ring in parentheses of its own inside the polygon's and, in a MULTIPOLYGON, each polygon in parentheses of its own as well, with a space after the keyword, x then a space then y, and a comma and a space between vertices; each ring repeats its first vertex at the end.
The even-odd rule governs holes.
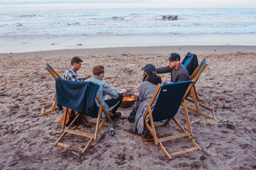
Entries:
MULTIPOLYGON (((175 46, 2 53, 0 169, 255 169, 255 49, 175 46), (141 136, 132 133, 133 124, 125 119, 114 120, 114 137, 108 135, 109 127, 103 127, 86 153, 75 151, 79 156, 73 150, 53 145, 61 134, 59 120, 63 112, 40 114, 41 106, 51 102, 55 94, 55 81, 45 69, 46 63, 63 76, 72 56, 78 55, 84 61, 79 76, 90 74, 96 64, 104 64, 104 79, 111 86, 138 94, 133 84, 141 80, 142 66, 165 66, 170 52, 179 52, 183 58, 188 51, 209 64, 196 88, 216 113, 212 120, 189 111, 191 121, 200 119, 192 123, 192 130, 202 151, 169 159, 158 145, 144 144, 141 136)), ((129 115, 132 108, 119 111, 129 115)), ((176 117, 187 128, 183 109, 176 117)), ((95 126, 84 123, 77 128, 86 127, 91 130, 95 126)), ((160 135, 179 132, 173 121, 157 131, 160 135)), ((86 138, 67 135, 65 141, 84 146, 86 138)), ((191 146, 185 137, 164 144, 169 151, 191 146)))

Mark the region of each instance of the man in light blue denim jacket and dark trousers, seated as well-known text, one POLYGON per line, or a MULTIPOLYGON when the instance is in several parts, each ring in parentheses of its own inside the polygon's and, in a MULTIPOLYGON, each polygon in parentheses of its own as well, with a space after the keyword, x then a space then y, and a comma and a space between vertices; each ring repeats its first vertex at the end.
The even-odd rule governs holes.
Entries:
MULTIPOLYGON (((104 77, 104 66, 103 65, 96 65, 92 69, 92 73, 94 77, 86 79, 85 81, 92 81, 96 84, 98 84, 100 87, 98 89, 98 96, 101 100, 103 100, 103 104, 107 111, 112 110, 112 113, 110 114, 111 118, 117 118, 121 116, 120 112, 116 112, 117 108, 121 105, 123 95, 117 94, 110 85, 106 83, 105 80, 102 80, 104 77), (105 100, 105 95, 109 95, 111 99, 105 100)), ((95 99, 96 100, 96 99, 95 99)), ((97 106, 99 106, 99 103, 96 100, 97 106)), ((102 118, 105 118, 105 114, 101 114, 102 118)))

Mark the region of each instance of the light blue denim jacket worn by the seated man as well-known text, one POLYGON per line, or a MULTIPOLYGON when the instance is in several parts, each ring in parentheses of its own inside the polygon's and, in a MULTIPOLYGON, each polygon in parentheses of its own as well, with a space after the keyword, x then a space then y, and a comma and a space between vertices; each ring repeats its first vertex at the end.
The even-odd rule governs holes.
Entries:
MULTIPOLYGON (((105 103, 105 93, 114 99, 116 99, 118 97, 118 94, 112 89, 112 87, 110 85, 108 85, 106 83, 105 80, 100 80, 98 77, 88 78, 84 81, 92 81, 100 86, 97 94, 98 94, 99 98, 103 101, 103 105, 105 106, 106 110, 109 111, 109 107, 105 103)), ((97 106, 99 107, 99 103, 96 98, 95 98, 95 101, 96 101, 97 106)), ((105 114, 103 113, 103 111, 101 113, 101 117, 102 118, 106 117, 105 114)))

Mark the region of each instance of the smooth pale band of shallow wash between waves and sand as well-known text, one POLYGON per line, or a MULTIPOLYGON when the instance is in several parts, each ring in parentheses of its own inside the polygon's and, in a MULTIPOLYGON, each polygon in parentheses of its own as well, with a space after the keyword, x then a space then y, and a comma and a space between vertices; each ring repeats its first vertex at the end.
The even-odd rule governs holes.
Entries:
POLYGON ((120 47, 256 45, 256 34, 8 35, 0 36, 0 39, 3 44, 0 46, 0 53, 120 47))

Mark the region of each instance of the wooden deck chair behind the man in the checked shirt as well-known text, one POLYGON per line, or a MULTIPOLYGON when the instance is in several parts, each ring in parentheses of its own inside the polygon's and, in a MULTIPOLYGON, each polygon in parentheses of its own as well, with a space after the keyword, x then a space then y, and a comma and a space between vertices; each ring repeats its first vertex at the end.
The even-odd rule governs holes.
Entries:
MULTIPOLYGON (((45 69, 53 76, 54 79, 57 77, 60 78, 60 75, 47 63, 45 69)), ((49 114, 52 111, 57 110, 56 108, 56 93, 53 97, 53 101, 47 105, 42 106, 41 114, 49 114), (52 108, 48 111, 45 111, 45 108, 52 106, 52 108)))

